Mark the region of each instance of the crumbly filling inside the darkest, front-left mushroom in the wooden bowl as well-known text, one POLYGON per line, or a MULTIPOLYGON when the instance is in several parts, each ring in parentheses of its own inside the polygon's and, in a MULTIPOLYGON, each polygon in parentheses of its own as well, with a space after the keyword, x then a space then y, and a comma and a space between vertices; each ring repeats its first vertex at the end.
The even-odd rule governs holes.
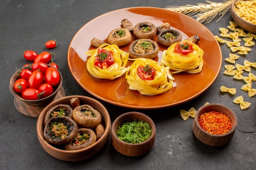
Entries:
POLYGON ((52 139, 64 139, 65 137, 67 137, 68 134, 68 129, 67 126, 64 126, 63 123, 58 123, 58 122, 54 122, 51 125, 51 132, 52 132, 52 139))

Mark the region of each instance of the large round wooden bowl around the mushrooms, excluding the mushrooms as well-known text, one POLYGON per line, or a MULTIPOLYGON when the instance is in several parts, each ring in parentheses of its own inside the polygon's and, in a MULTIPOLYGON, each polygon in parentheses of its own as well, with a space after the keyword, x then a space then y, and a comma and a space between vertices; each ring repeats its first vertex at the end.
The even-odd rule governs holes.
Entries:
POLYGON ((110 122, 110 116, 108 114, 108 110, 97 100, 92 99, 90 97, 85 96, 67 96, 63 97, 61 99, 57 99, 54 102, 47 105, 40 116, 38 117, 38 121, 36 124, 36 131, 38 140, 41 144, 41 146, 44 148, 44 150, 53 157, 57 159, 61 159, 63 161, 81 161, 84 159, 88 159, 92 157, 93 155, 97 154, 103 146, 108 141, 109 135, 110 135, 110 128, 111 128, 111 122, 110 122), (81 150, 65 150, 64 146, 63 148, 58 146, 52 146, 44 138, 43 130, 44 130, 44 117, 47 113, 47 110, 52 108, 53 106, 57 104, 70 104, 70 99, 78 97, 80 104, 88 104, 98 110, 101 113, 101 124, 103 124, 103 127, 105 128, 105 132, 102 135, 102 137, 96 141, 91 146, 88 146, 87 148, 83 148, 81 150))

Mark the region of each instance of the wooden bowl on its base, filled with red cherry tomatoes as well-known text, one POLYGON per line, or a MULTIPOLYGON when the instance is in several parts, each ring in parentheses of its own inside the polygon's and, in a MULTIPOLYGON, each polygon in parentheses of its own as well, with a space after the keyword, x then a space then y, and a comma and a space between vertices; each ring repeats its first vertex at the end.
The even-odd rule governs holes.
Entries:
POLYGON ((54 66, 34 62, 23 66, 10 79, 9 88, 14 95, 14 105, 23 115, 39 117, 43 108, 52 102, 58 91, 65 96, 61 72, 54 66))

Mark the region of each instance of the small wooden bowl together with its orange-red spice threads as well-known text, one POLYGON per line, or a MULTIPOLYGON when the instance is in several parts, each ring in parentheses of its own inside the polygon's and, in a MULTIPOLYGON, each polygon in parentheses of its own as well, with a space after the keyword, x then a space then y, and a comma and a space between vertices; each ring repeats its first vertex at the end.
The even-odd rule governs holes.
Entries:
POLYGON ((236 114, 222 104, 207 104, 198 109, 193 122, 196 138, 209 146, 222 146, 233 138, 236 114))

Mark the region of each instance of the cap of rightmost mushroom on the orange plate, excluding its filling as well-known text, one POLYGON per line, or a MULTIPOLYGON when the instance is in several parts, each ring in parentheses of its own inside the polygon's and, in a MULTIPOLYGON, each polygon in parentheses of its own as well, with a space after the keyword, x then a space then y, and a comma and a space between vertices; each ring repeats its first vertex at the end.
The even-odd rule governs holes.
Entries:
POLYGON ((180 33, 180 31, 174 30, 174 29, 165 29, 164 31, 161 31, 158 34, 158 41, 163 44, 164 46, 171 46, 172 44, 174 44, 175 42, 180 42, 182 40, 182 34, 180 33), (165 33, 176 33, 177 36, 175 39, 173 40, 166 40, 164 38, 164 34, 165 33))

